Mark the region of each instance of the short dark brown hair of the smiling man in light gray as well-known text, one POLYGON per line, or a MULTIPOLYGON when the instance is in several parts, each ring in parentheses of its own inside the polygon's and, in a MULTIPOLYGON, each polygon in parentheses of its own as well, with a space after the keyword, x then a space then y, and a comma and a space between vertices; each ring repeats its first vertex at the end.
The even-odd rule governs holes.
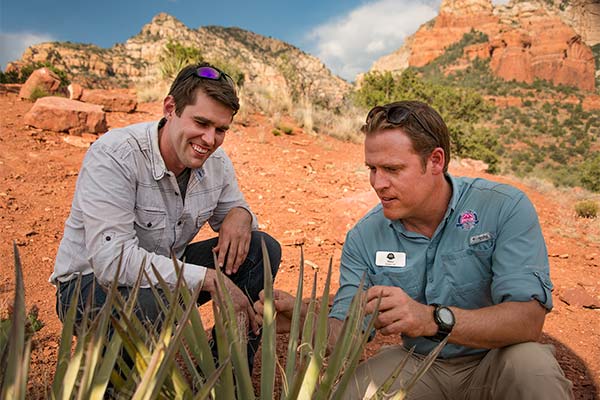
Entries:
POLYGON ((184 67, 171 84, 169 96, 175 100, 175 114, 181 116, 183 109, 196 102, 196 89, 201 89, 207 96, 231 108, 233 114, 240 109, 235 84, 229 75, 208 63, 191 64, 184 67), (221 73, 219 79, 207 79, 196 76, 196 70, 201 67, 211 67, 221 73))

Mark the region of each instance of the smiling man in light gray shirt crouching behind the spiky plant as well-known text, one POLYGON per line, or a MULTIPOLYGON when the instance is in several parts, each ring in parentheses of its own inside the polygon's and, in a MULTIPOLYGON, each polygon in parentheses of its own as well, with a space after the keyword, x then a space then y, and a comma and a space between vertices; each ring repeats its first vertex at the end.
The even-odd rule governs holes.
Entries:
POLYGON ((190 65, 175 78, 160 121, 111 130, 90 147, 50 277, 61 319, 79 276, 78 321, 88 297, 98 310, 113 281, 127 296, 143 268, 148 279, 142 280, 137 314, 160 321, 150 288, 158 284, 152 266, 175 285, 171 254, 185 261, 186 284, 202 286, 204 303, 216 290, 215 253, 237 311, 247 314, 256 332, 251 304, 263 288, 261 239, 273 275, 281 248, 257 230, 233 165, 219 148, 238 110, 227 74, 208 64, 190 65), (218 237, 190 243, 206 222, 218 237))

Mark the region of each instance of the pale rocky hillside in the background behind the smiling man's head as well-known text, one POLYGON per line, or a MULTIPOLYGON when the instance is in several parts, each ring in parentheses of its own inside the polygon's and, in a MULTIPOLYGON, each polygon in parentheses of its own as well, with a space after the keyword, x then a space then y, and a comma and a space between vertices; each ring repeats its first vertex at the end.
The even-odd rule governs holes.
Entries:
POLYGON ((84 86, 132 86, 159 78, 160 57, 169 42, 197 48, 210 62, 235 66, 243 73, 249 92, 260 91, 272 101, 306 98, 338 107, 351 88, 317 58, 280 40, 239 28, 190 29, 165 13, 156 15, 136 36, 109 49, 70 42, 31 46, 7 71, 48 62, 84 86))

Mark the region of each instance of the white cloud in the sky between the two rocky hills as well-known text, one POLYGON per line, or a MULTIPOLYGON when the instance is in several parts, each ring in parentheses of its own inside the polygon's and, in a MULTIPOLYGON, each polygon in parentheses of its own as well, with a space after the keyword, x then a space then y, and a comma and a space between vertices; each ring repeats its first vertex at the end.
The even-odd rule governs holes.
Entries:
POLYGON ((316 54, 334 73, 354 80, 379 57, 402 46, 438 13, 439 0, 371 1, 314 28, 308 35, 316 54))

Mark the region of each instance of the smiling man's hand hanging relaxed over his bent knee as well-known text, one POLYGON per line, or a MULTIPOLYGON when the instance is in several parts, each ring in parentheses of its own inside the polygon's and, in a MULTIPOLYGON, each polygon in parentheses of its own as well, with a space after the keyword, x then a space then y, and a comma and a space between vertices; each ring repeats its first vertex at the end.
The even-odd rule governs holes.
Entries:
POLYGON ((215 268, 223 268, 227 257, 225 273, 236 273, 248 255, 251 237, 252 215, 243 208, 232 208, 223 220, 219 230, 219 242, 213 248, 219 264, 215 268))

